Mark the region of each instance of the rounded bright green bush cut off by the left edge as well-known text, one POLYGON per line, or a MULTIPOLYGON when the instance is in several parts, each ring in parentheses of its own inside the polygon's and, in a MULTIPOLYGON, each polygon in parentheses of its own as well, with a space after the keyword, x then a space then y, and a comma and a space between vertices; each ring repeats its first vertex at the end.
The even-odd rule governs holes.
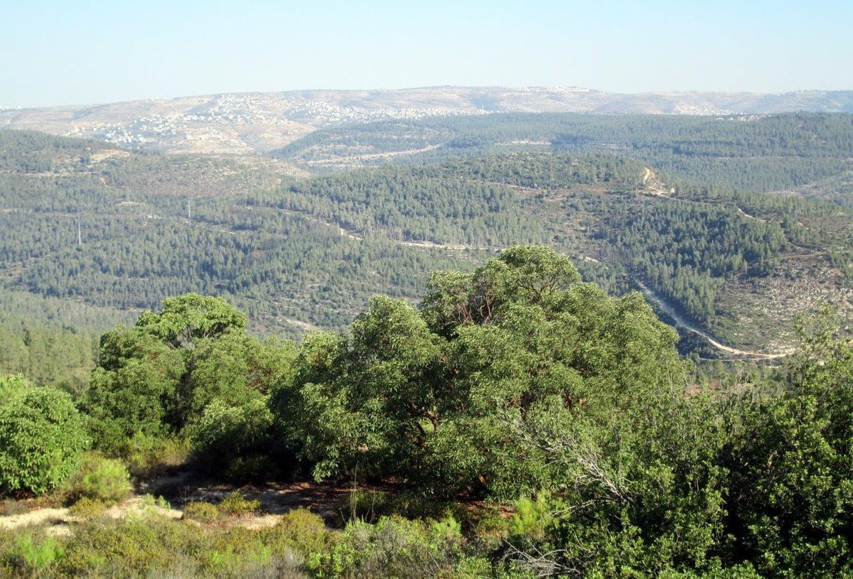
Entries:
POLYGON ((0 378, 0 489, 41 495, 74 471, 89 445, 67 392, 0 378))

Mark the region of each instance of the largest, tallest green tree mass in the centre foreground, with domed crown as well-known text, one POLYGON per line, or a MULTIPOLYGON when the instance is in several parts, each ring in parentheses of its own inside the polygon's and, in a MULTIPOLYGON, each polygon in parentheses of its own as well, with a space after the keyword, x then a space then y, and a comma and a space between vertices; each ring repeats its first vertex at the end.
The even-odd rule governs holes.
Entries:
POLYGON ((675 340, 639 295, 608 298, 565 257, 519 246, 472 274, 433 275, 420 310, 374 298, 347 336, 307 339, 275 408, 317 478, 513 496, 556 474, 519 431, 680 385, 675 340))

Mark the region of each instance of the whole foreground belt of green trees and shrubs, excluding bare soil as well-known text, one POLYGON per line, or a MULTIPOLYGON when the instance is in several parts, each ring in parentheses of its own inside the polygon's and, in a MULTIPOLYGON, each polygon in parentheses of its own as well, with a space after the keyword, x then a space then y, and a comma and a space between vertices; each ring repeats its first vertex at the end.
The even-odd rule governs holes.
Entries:
MULTIPOLYGON (((351 498, 353 515, 374 524, 331 534, 295 512, 252 531, 252 547, 156 518, 91 523, 61 542, 0 536, 0 570, 853 572, 853 355, 828 310, 804 321, 801 353, 774 379, 713 392, 691 384, 676 333, 639 294, 608 297, 543 246, 436 271, 418 307, 375 297, 347 332, 314 333, 298 348, 259 342, 246 325, 223 299, 186 294, 106 333, 82 401, 96 449, 126 459, 146 440, 178 437, 196 467, 235 480, 393 482, 400 494, 368 497, 364 515, 351 498), (512 516, 474 516, 456 502, 472 499, 502 501, 512 516), (222 554, 160 559, 177 546, 232 553, 232 566, 220 566, 222 554), (285 546, 299 557, 282 559, 285 546), (85 554, 93 549, 101 556, 85 554)), ((22 378, 2 389, 3 489, 42 493, 73 472, 83 422, 66 393, 22 378)), ((81 505, 114 501, 126 472, 89 455, 68 486, 81 505)), ((186 516, 216 525, 257 507, 229 495, 186 516)))

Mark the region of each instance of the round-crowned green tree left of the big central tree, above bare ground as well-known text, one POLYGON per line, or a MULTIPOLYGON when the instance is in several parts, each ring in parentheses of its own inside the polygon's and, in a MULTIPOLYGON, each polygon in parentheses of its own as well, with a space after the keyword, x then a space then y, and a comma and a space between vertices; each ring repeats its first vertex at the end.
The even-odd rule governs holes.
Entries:
POLYGON ((251 478, 247 456, 270 452, 269 386, 287 382, 294 350, 249 337, 246 321, 222 298, 187 294, 104 334, 86 400, 96 448, 131 457, 137 438, 179 434, 202 464, 241 460, 235 476, 251 478))

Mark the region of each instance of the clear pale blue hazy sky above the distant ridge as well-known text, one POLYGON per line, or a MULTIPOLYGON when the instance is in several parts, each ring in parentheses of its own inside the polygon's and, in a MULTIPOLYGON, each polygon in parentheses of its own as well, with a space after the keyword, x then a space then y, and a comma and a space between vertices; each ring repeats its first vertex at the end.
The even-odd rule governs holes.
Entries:
POLYGON ((439 84, 853 90, 853 2, 0 0, 0 106, 439 84))

